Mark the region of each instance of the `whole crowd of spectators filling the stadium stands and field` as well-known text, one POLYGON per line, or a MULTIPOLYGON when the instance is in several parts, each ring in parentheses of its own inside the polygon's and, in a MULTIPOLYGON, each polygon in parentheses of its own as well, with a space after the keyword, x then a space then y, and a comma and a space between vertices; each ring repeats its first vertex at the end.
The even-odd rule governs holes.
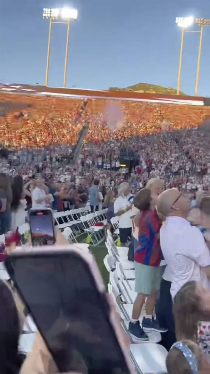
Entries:
MULTIPOLYGON (((138 116, 136 110, 133 105, 132 113, 138 116)), ((209 134, 197 131, 195 124, 191 128, 189 123, 164 127, 159 112, 155 114, 159 116, 157 122, 146 122, 144 118, 123 126, 105 121, 98 113, 96 121, 86 109, 80 112, 77 107, 68 117, 69 122, 78 119, 74 125, 68 122, 66 126, 64 114, 56 127, 53 115, 50 127, 49 120, 40 118, 38 132, 37 127, 33 128, 34 119, 31 121, 22 113, 21 117, 24 116, 27 123, 15 132, 15 140, 12 140, 12 125, 1 119, 4 144, 13 147, 9 153, 1 153, 0 234, 21 226, 25 222, 25 209, 31 207, 63 211, 83 207, 89 201, 93 212, 106 206, 110 226, 112 217, 119 218, 121 244, 127 245, 129 239, 132 243, 129 251, 133 255, 130 260, 134 261, 137 294, 128 327, 130 335, 148 341, 149 331, 160 332, 162 344, 169 350, 168 373, 208 373, 210 254, 203 229, 205 233, 210 229, 209 134), (80 157, 72 165, 75 139, 84 120, 92 124, 80 157), (61 123, 65 123, 63 128, 61 123), (20 144, 25 145, 18 149, 20 144), (131 172, 120 167, 123 149, 132 150, 138 159, 131 172), (204 200, 198 199, 197 191, 202 191, 204 200), (195 207, 199 210, 199 220, 191 226, 188 214, 195 207), (137 211, 133 212, 133 208, 137 211), (145 301, 146 314, 140 325, 145 301), (153 318, 154 309, 157 320, 153 318)), ((12 304, 8 294, 5 300, 1 304, 12 304)), ((5 309, 1 314, 6 318, 5 309)), ((15 331, 18 336, 17 330, 18 327, 15 331)), ((17 336, 12 338, 17 340, 17 336)), ((3 364, 6 373, 15 373, 20 366, 15 352, 17 341, 9 357, 7 344, 11 349, 6 341, 3 364), (10 368, 10 360, 14 370, 10 368)))

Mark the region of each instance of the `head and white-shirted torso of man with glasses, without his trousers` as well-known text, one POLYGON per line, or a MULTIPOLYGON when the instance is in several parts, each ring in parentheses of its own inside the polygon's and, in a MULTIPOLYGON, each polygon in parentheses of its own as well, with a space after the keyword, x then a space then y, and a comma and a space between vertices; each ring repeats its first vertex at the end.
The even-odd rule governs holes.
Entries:
POLYGON ((187 221, 188 196, 176 188, 158 197, 158 212, 166 217, 160 230, 162 253, 171 274, 171 296, 188 281, 200 281, 209 289, 210 253, 200 230, 187 221))

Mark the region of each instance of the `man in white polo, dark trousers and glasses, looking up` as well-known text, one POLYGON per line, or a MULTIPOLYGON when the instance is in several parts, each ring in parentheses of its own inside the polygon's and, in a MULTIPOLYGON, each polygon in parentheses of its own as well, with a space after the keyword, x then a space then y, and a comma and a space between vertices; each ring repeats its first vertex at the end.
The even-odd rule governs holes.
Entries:
POLYGON ((157 202, 158 213, 166 217, 160 229, 161 250, 167 264, 160 285, 156 315, 167 350, 176 341, 173 318, 173 298, 188 281, 201 281, 209 288, 210 252, 200 230, 187 221, 189 196, 176 188, 162 192, 157 202))

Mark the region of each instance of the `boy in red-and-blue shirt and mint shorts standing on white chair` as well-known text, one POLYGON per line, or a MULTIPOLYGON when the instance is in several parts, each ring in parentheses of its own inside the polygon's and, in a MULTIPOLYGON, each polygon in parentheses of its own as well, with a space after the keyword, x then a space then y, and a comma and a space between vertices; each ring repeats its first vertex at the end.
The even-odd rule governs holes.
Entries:
POLYGON ((136 300, 133 304, 132 320, 129 323, 130 334, 138 340, 149 340, 144 331, 165 332, 152 318, 157 293, 160 288, 162 271, 159 230, 161 221, 155 210, 156 196, 142 188, 134 198, 134 206, 141 211, 139 221, 139 245, 134 254, 136 300), (141 309, 146 298, 146 316, 139 324, 141 309))

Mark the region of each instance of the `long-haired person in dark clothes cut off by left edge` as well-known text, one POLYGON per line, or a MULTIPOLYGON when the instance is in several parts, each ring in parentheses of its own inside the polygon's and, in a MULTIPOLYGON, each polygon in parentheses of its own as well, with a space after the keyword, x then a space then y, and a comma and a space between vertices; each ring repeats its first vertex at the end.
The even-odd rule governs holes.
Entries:
MULTIPOLYGON (((10 230, 11 213, 10 205, 12 202, 12 188, 10 178, 6 174, 0 174, 0 198, 6 199, 6 209, 0 211, 0 235, 10 230)), ((5 202, 5 200, 3 200, 5 202)), ((5 204, 4 204, 5 205, 5 204)))

